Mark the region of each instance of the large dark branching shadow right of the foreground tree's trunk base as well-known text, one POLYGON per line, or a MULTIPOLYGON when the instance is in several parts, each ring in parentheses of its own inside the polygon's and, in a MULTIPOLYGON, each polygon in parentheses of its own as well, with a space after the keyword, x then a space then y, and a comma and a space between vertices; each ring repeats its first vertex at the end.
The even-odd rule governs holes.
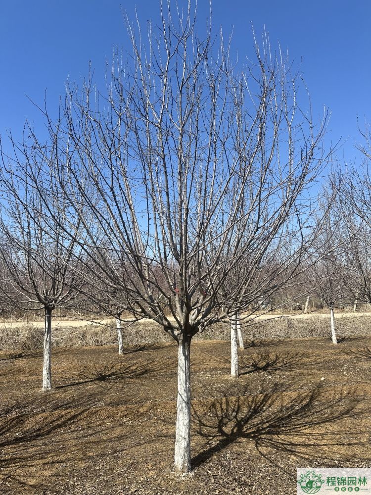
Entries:
POLYGON ((348 426, 345 436, 343 430, 344 422, 367 415, 360 408, 362 399, 350 390, 330 394, 321 385, 294 396, 273 389, 257 396, 218 398, 209 407, 194 410, 204 447, 193 457, 193 467, 234 442, 246 440, 253 441, 259 453, 273 464, 272 452, 279 452, 280 458, 293 455, 306 461, 332 457, 336 464, 339 449, 347 453, 353 449, 361 458, 362 446, 368 448, 370 460, 369 435, 351 432, 348 426))

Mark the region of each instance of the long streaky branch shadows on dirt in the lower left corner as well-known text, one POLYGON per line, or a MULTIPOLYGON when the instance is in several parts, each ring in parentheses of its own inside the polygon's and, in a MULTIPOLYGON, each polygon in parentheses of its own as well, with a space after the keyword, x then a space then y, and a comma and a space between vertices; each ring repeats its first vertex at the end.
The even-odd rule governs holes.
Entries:
POLYGON ((110 408, 74 408, 72 401, 44 413, 1 414, 0 484, 8 480, 12 493, 18 493, 15 487, 35 489, 49 485, 51 478, 63 483, 66 463, 70 469, 81 460, 100 464, 107 450, 113 456, 127 450, 133 441, 130 431, 121 428, 125 413, 115 413, 110 408))

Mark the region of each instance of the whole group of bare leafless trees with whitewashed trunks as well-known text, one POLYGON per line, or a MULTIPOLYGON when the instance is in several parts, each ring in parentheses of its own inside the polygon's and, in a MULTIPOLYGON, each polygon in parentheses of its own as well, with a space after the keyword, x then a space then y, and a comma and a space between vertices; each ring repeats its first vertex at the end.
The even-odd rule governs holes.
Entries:
MULTIPOLYGON (((107 91, 68 87, 47 137, 26 124, 2 148, 2 302, 45 310, 43 390, 56 308, 149 318, 178 345, 175 467, 190 470, 190 344, 281 290, 371 301, 367 168, 328 174, 328 115, 299 107, 300 78, 268 37, 240 66, 195 15, 127 24, 107 91), (330 179, 319 188, 324 174, 330 179), (294 288, 294 289, 293 289, 294 288)), ((366 142, 369 135, 365 135, 366 142)), ((362 148, 370 158, 370 148, 362 148)), ((237 368, 236 368, 237 366, 237 368)))

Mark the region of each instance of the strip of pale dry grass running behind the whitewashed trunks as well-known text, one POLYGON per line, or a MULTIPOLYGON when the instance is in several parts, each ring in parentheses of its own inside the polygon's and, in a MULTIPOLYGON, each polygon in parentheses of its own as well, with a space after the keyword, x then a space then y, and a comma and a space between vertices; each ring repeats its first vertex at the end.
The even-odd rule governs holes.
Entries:
MULTIPOLYGON (((339 316, 336 320, 339 338, 352 335, 371 334, 371 315, 339 316)), ((323 315, 303 315, 302 318, 279 317, 255 321, 243 326, 246 341, 259 339, 295 339, 308 337, 328 337, 329 321, 323 315)), ((228 324, 218 323, 194 340, 229 340, 228 324)), ((126 345, 154 344, 171 342, 171 338, 156 323, 138 322, 124 329, 126 345)), ((76 326, 75 322, 63 321, 54 324, 52 331, 53 347, 107 346, 117 343, 115 326, 107 324, 86 324, 76 326)), ((0 329, 0 350, 35 350, 43 346, 43 328, 33 322, 23 325, 2 325, 0 329)))

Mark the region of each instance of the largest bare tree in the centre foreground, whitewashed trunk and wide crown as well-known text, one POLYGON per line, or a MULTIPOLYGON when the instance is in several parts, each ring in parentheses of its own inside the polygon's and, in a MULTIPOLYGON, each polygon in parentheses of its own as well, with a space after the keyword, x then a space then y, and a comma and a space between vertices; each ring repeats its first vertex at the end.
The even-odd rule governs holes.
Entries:
POLYGON ((327 117, 316 127, 298 109, 297 75, 267 36, 237 73, 222 36, 218 49, 210 29, 197 36, 190 4, 161 14, 146 41, 128 22, 132 53, 115 58, 106 96, 89 77, 58 121, 45 110, 43 157, 94 276, 120 291, 129 320, 156 321, 178 345, 175 468, 187 472, 191 339, 272 292, 278 252, 284 270, 299 262, 327 117))

